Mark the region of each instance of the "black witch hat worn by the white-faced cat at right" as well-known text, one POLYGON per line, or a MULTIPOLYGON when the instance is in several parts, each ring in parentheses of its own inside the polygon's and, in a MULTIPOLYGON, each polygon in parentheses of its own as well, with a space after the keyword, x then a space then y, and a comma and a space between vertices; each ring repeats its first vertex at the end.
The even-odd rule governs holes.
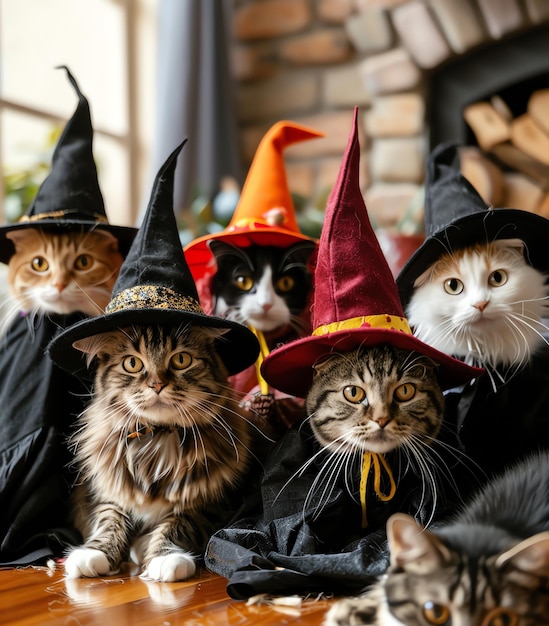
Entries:
POLYGON ((520 209, 488 206, 459 169, 459 144, 438 145, 429 156, 425 177, 425 241, 397 276, 406 305, 415 281, 447 252, 476 243, 519 239, 526 262, 549 271, 549 220, 520 209))

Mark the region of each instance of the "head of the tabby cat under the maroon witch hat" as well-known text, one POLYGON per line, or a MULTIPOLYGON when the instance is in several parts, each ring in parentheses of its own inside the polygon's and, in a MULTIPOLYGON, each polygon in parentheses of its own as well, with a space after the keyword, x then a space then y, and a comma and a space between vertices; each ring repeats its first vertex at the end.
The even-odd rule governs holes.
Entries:
POLYGON ((356 464, 360 468, 364 453, 402 451, 418 485, 424 481, 436 499, 436 474, 444 468, 440 453, 428 450, 442 427, 443 395, 433 361, 377 345, 336 353, 314 370, 307 415, 315 438, 332 454, 313 489, 329 490, 337 468, 360 475, 356 464))

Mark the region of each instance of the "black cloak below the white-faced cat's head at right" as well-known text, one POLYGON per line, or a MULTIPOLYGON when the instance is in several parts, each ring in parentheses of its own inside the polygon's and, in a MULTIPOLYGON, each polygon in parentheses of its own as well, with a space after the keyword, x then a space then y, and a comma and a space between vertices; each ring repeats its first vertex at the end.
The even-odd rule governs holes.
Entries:
POLYGON ((525 455, 549 449, 549 346, 527 366, 488 373, 446 394, 448 419, 456 425, 462 450, 492 476, 525 455))

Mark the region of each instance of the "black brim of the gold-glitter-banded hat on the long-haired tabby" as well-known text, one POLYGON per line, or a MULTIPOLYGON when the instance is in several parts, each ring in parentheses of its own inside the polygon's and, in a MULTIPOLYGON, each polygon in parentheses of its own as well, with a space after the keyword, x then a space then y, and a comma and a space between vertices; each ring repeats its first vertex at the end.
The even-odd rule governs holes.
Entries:
POLYGON ((216 341, 216 349, 230 375, 246 369, 259 356, 257 338, 242 324, 180 309, 126 309, 87 318, 60 333, 48 345, 47 353, 59 367, 71 374, 85 376, 86 358, 74 347, 75 341, 129 326, 152 324, 191 324, 226 329, 227 332, 216 341))

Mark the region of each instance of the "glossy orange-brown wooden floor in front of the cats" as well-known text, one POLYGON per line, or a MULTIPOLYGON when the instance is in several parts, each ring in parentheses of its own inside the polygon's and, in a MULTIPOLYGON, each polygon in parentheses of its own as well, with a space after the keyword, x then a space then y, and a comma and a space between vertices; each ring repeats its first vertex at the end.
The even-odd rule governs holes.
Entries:
POLYGON ((137 576, 66 580, 62 571, 0 570, 0 624, 10 626, 320 626, 330 606, 299 608, 232 600, 226 581, 202 571, 188 581, 157 583, 137 576))

